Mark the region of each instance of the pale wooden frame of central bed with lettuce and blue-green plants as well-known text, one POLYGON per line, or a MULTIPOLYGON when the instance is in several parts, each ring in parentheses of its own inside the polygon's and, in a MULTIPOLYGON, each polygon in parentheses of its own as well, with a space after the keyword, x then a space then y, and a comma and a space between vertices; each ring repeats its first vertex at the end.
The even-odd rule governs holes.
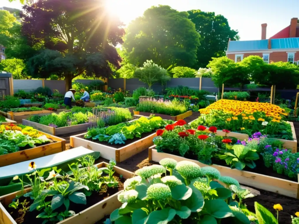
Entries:
POLYGON ((155 132, 121 148, 114 148, 113 146, 102 145, 79 137, 83 137, 85 134, 86 133, 71 136, 70 145, 72 147, 83 146, 84 148, 100 152, 100 157, 108 160, 114 159, 116 162, 123 162, 141 151, 144 151, 152 145, 152 139, 157 136, 155 132))

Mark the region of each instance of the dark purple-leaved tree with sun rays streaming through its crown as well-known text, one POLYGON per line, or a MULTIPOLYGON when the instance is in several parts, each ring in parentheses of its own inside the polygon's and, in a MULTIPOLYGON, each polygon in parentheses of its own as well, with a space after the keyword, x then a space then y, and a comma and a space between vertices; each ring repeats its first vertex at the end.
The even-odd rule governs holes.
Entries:
POLYGON ((22 18, 22 34, 39 50, 27 62, 30 76, 64 76, 68 89, 78 75, 108 77, 112 65, 120 67, 123 24, 104 0, 38 0, 23 7, 22 18))

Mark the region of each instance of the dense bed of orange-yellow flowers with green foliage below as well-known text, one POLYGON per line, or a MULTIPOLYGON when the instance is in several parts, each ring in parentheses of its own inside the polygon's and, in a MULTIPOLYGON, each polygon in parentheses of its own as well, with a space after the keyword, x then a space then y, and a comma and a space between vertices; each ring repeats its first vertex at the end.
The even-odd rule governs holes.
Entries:
POLYGON ((191 123, 192 128, 215 126, 249 136, 260 132, 269 138, 293 140, 291 125, 285 121, 288 113, 277 105, 219 100, 199 112, 201 115, 191 123))

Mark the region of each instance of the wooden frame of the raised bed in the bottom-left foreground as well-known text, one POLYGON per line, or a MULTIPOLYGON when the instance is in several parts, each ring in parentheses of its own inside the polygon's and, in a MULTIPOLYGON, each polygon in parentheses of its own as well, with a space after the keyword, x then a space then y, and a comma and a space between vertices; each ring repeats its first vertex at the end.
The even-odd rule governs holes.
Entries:
MULTIPOLYGON (((107 167, 109 164, 106 162, 101 162, 96 166, 98 168, 107 167)), ((114 166, 117 174, 122 175, 124 179, 128 179, 134 176, 130 171, 124 170, 120 167, 114 166)), ((25 189, 28 192, 30 188, 25 189)), ((95 222, 103 219, 105 215, 111 214, 115 209, 119 208, 122 203, 118 201, 117 196, 122 192, 119 191, 108 198, 92 205, 89 208, 75 214, 68 219, 65 219, 57 224, 74 224, 74 223, 84 223, 84 224, 94 224, 95 222)), ((3 205, 9 205, 16 195, 20 195, 21 191, 17 191, 11 194, 4 195, 0 197, 0 224, 16 224, 16 221, 11 217, 11 215, 6 211, 3 205)), ((87 197, 88 200, 88 197, 87 197)), ((33 220, 34 223, 34 220, 33 220)))

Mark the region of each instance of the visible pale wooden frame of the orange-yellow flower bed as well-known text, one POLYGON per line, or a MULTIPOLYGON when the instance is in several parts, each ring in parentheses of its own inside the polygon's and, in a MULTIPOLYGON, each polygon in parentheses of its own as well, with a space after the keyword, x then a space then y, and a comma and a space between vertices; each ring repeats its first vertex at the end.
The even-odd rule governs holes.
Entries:
MULTIPOLYGON (((189 122, 188 124, 190 125, 193 121, 189 122)), ((294 123, 293 122, 289 122, 287 121, 292 128, 292 135, 293 135, 293 140, 286 140, 286 139, 276 139, 279 140, 281 142, 283 142, 283 147, 292 149, 292 153, 296 153, 297 152, 297 138, 296 138, 296 132, 295 132, 295 128, 294 128, 294 123)), ((223 132, 222 130, 217 130, 216 135, 219 136, 225 136, 225 132, 223 132)), ((244 140, 244 139, 248 139, 248 134, 242 134, 242 133, 238 133, 238 132, 230 132, 228 133, 228 137, 235 137, 237 139, 240 140, 244 140)))

